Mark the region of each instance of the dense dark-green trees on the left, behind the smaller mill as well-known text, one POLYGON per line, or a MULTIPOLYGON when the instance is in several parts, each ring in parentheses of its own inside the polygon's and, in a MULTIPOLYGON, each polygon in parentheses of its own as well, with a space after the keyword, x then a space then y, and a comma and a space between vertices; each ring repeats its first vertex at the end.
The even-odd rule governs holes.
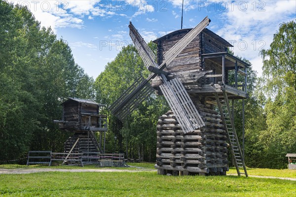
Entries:
POLYGON ((74 63, 69 45, 40 27, 26 7, 0 0, 0 160, 28 150, 62 151, 60 103, 94 98, 94 81, 74 63))

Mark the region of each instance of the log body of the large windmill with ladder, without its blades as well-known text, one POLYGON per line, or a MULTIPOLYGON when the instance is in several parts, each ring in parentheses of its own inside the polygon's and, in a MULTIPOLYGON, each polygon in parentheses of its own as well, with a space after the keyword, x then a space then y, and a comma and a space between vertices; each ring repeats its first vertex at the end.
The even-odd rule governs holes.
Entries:
MULTIPOLYGON (((167 51, 190 30, 178 30, 153 41, 157 44, 158 65, 165 60, 167 51)), ((229 100, 234 103, 234 99, 248 97, 247 67, 250 65, 230 54, 228 47, 233 46, 216 33, 204 29, 163 69, 172 73, 167 75, 169 80, 175 77, 181 80, 205 126, 185 134, 180 132, 173 112, 160 116, 155 165, 159 174, 226 174, 228 142, 238 175, 248 176, 229 100), (230 73, 234 75, 233 81, 229 80, 230 73), (219 113, 215 111, 216 107, 219 113)), ((151 80, 158 95, 162 95, 159 89, 162 84, 160 76, 151 80)))

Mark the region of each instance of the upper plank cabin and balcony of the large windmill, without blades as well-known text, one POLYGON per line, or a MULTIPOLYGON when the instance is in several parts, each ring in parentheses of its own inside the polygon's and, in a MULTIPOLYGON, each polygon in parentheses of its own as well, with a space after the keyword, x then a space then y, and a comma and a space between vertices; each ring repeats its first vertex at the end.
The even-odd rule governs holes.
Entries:
MULTIPOLYGON (((178 30, 153 41, 157 44, 159 65, 165 60, 166 52, 190 30, 178 30)), ((168 79, 178 77, 189 95, 202 94, 203 98, 216 100, 213 93, 220 95, 225 91, 228 99, 247 98, 246 69, 250 65, 227 52, 228 47, 233 46, 216 33, 204 29, 163 70, 173 73, 167 76, 168 79), (231 70, 235 74, 233 84, 228 80, 231 70)), ((151 80, 151 86, 156 90, 161 84, 159 76, 151 80)), ((160 91, 158 93, 162 94, 160 91)))

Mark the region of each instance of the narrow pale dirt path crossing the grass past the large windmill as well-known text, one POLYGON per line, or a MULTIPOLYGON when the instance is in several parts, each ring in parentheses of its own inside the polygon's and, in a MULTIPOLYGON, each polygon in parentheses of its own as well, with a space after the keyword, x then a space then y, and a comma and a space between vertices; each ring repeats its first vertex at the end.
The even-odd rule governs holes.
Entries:
MULTIPOLYGON (((37 172, 155 172, 155 169, 113 169, 113 168, 98 168, 98 169, 61 169, 61 168, 16 168, 16 169, 1 169, 1 174, 29 174, 29 173, 37 173, 37 172)), ((227 174, 236 176, 237 174, 227 174)), ((275 176, 257 176, 257 175, 249 175, 250 177, 256 178, 271 178, 271 179, 283 179, 296 181, 296 178, 287 178, 287 177, 275 177, 275 176)))

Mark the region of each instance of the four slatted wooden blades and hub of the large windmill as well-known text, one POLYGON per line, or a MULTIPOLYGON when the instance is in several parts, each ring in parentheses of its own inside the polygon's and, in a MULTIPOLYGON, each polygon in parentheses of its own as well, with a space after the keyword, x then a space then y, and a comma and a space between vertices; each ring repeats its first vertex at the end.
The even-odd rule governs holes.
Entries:
POLYGON ((192 132, 203 126, 205 123, 201 119, 196 107, 185 90, 180 79, 174 78, 170 81, 166 76, 170 73, 163 69, 168 66, 185 47, 203 31, 210 23, 210 19, 205 17, 195 28, 187 33, 164 55, 165 60, 158 66, 155 55, 148 47, 147 43, 130 22, 130 36, 137 48, 145 66, 150 72, 149 77, 142 82, 138 80, 130 88, 128 88, 110 107, 111 113, 123 120, 128 114, 137 108, 150 94, 152 94, 151 86, 148 83, 156 75, 162 78, 163 85, 159 86, 165 99, 170 105, 172 111, 176 114, 176 118, 182 128, 186 132, 192 132), (151 66, 152 65, 152 66, 151 66))

